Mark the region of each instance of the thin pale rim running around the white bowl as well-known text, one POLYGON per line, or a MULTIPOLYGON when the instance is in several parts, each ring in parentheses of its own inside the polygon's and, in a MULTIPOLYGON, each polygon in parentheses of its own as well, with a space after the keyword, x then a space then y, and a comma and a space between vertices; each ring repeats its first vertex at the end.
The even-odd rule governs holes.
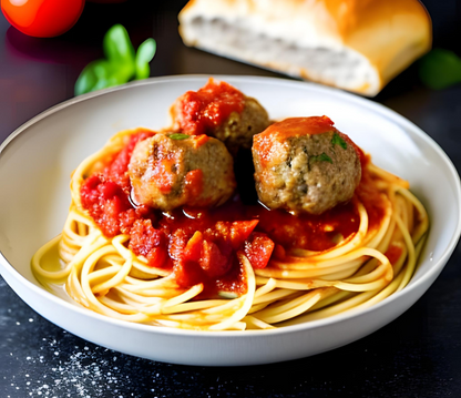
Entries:
MULTIPOLYGON (((269 78, 269 76, 257 76, 257 75, 232 75, 232 74, 181 74, 181 75, 166 75, 166 76, 158 76, 158 78, 148 78, 141 81, 134 81, 129 82, 122 85, 109 88, 99 90, 95 92, 90 92, 86 94, 79 95, 76 98, 69 99, 66 101, 60 102, 43 112, 37 114, 22 125, 20 125, 18 129, 16 129, 1 144, 0 144, 0 157, 2 156, 4 150, 8 147, 8 145, 21 133, 27 132, 29 127, 38 123, 39 121, 52 116, 54 113, 58 113, 64 109, 68 109, 76 103, 89 101, 91 99, 111 94, 113 92, 130 90, 137 86, 143 85, 155 85, 158 83, 168 83, 168 82, 178 82, 178 81, 189 81, 191 83, 199 83, 205 79, 208 79, 209 76, 213 76, 216 80, 224 80, 228 81, 230 84, 235 83, 266 83, 266 84, 276 84, 276 85, 288 85, 288 86, 305 86, 309 91, 314 92, 324 92, 327 94, 330 94, 339 100, 345 100, 349 103, 354 103, 359 105, 360 108, 368 109, 370 111, 373 111, 380 115, 387 116, 391 122, 402 126, 406 129, 406 131, 411 131, 412 134, 416 134, 419 139, 424 141, 426 144, 428 144, 440 157, 441 161, 443 161, 444 165, 450 171, 450 175, 447 175, 449 181, 453 182, 454 185, 452 185, 453 193, 455 197, 458 198, 458 220, 457 220, 457 226, 455 232, 451 236, 450 241, 445 245, 445 249, 441 253, 440 258, 432 264, 432 266, 416 280, 414 283, 411 283, 410 285, 407 285, 402 290, 395 293, 383 300, 377 303, 376 305, 365 308, 358 312, 347 312, 341 313, 328 318, 311 320, 309 323, 300 323, 297 325, 290 325, 285 326, 280 328, 275 329, 264 329, 264 330, 222 330, 222 331, 208 331, 208 330, 187 330, 187 329, 177 329, 177 328, 170 328, 166 326, 152 326, 152 325, 144 325, 144 324, 136 324, 136 323, 130 323, 126 320, 121 319, 114 319, 98 313, 94 313, 88 308, 84 308, 82 306, 79 306, 76 304, 72 304, 70 302, 66 302, 52 293, 48 292, 44 287, 40 287, 39 285, 32 283, 22 274, 20 274, 12 264, 8 262, 8 259, 4 257, 3 253, 0 249, 0 265, 3 267, 0 267, 0 271, 3 268, 6 273, 9 273, 9 276, 13 277, 16 282, 18 282, 21 285, 24 285, 24 287, 32 289, 35 294, 43 296, 45 299, 51 299, 55 305, 58 306, 64 306, 66 309, 72 312, 78 312, 82 316, 89 316, 90 318, 93 318, 99 322, 104 322, 112 324, 113 326, 122 327, 122 328, 129 328, 129 329, 135 329, 137 331, 142 333, 152 333, 152 334, 160 334, 160 335, 174 335, 174 336, 182 336, 185 338, 189 337, 196 337, 196 338, 213 338, 213 339, 222 339, 222 338, 235 338, 235 337, 248 337, 248 336, 278 336, 278 335, 286 335, 286 334, 295 334, 304 330, 309 329, 316 329, 316 328, 322 328, 326 326, 330 326, 332 324, 339 324, 342 322, 351 320, 354 318, 358 318, 361 316, 365 316, 371 312, 375 312, 379 308, 390 306, 392 303, 397 299, 399 299, 401 296, 409 295, 411 292, 418 289, 418 287, 422 284, 426 284, 429 280, 432 280, 430 283, 433 283, 433 280, 437 278, 437 275, 443 269, 444 265, 449 261, 451 254, 453 253, 458 241, 460 239, 461 235, 461 181, 460 176, 458 174, 457 169, 454 167, 453 163, 451 162, 450 157, 447 155, 447 153, 440 147, 440 145, 426 132, 423 132, 418 125, 409 121, 408 119, 403 118, 396 111, 387 108, 383 104, 373 102, 371 100, 361 98, 357 94, 348 93, 345 91, 341 91, 336 88, 329 88, 325 85, 320 85, 318 83, 313 82, 305 82, 305 81, 295 81, 295 80, 288 80, 283 78, 269 78)), ((2 276, 4 277, 3 273, 2 276)), ((7 278, 6 278, 7 279, 7 278)), ((8 283, 8 280, 7 280, 8 283)), ((14 290, 14 288, 13 288, 14 290)))

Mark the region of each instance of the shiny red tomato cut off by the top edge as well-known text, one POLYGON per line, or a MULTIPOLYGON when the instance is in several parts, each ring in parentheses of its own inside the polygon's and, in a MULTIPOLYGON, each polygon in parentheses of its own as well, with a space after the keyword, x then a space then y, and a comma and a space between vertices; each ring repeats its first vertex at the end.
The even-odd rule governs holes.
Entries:
POLYGON ((71 29, 85 0, 1 0, 1 11, 14 28, 35 38, 53 38, 71 29))

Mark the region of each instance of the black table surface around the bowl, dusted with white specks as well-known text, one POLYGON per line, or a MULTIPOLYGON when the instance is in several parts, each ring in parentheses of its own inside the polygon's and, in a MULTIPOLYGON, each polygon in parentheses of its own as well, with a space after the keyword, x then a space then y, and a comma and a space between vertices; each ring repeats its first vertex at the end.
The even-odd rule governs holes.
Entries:
MULTIPOLYGON (((434 47, 461 54, 461 7, 426 0, 434 47)), ((289 79, 186 48, 177 33, 185 1, 86 3, 75 27, 33 39, 0 16, 0 142, 45 109, 73 96, 74 82, 102 57, 114 23, 137 47, 153 37, 151 75, 248 74, 289 79)), ((432 91, 418 64, 373 101, 420 126, 461 170, 461 84, 432 91)), ((437 193, 436 193, 437 194, 437 193)), ((116 353, 54 326, 0 277, 0 397, 461 397, 461 251, 423 297, 398 319, 348 346, 281 364, 207 368, 116 353)))

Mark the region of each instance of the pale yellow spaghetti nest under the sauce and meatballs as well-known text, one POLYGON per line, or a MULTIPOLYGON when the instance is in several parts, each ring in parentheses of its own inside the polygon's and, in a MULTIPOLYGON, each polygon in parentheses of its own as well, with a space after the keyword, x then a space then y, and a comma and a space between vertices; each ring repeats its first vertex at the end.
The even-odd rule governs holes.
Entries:
POLYGON ((117 319, 184 329, 269 329, 367 308, 401 290, 412 277, 428 215, 406 181, 369 162, 366 183, 381 195, 379 225, 370 227, 367 206, 355 195, 359 227, 335 247, 315 252, 277 245, 262 269, 254 269, 238 252, 245 280, 245 293, 238 296, 204 298, 203 284, 180 286, 171 269, 136 256, 127 247, 129 235, 104 236, 82 207, 85 178, 132 133, 119 133, 75 170, 62 234, 32 258, 42 284, 64 284, 83 307, 117 319), (50 262, 57 254, 59 264, 50 262))

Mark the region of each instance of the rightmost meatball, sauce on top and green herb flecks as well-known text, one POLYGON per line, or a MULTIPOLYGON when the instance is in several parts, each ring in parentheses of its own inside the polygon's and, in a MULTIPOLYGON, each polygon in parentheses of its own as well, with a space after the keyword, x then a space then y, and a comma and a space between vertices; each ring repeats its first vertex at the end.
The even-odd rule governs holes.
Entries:
POLYGON ((327 116, 293 118, 254 136, 259 201, 269 208, 321 214, 347 202, 361 178, 360 150, 327 116))

